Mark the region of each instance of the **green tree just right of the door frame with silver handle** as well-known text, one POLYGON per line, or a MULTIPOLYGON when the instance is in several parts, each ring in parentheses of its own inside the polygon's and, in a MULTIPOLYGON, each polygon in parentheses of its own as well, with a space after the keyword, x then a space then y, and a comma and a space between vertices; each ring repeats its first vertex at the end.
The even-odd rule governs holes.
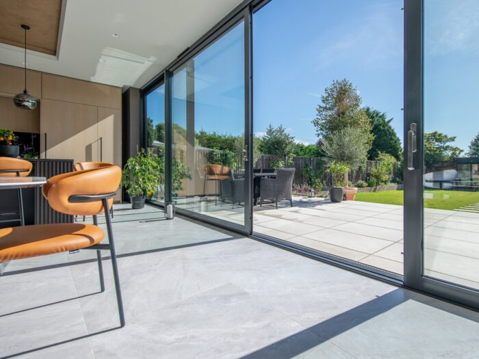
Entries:
POLYGON ((437 131, 424 133, 424 164, 431 169, 437 163, 456 161, 463 150, 450 145, 456 140, 456 136, 448 136, 437 131))

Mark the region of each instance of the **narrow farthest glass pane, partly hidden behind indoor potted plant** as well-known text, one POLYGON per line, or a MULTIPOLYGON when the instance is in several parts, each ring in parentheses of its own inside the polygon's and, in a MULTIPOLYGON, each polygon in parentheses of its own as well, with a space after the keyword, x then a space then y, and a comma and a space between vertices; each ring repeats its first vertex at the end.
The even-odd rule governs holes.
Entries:
POLYGON ((163 168, 157 190, 148 196, 150 200, 164 202, 165 85, 146 95, 146 145, 148 150, 158 155, 163 168))

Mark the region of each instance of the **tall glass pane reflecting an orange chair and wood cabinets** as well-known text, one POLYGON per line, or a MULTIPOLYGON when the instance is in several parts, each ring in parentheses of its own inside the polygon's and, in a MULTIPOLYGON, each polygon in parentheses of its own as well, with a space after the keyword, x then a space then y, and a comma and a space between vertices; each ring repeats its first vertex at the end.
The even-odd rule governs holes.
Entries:
POLYGON ((177 207, 244 225, 244 23, 172 77, 177 207))

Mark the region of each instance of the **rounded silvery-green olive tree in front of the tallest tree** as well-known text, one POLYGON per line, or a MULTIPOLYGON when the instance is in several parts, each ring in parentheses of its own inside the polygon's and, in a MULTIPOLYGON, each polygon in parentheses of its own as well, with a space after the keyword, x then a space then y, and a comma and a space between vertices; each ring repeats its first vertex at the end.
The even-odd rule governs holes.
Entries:
POLYGON ((323 146, 328 159, 346 163, 351 170, 357 170, 367 159, 369 138, 361 129, 348 127, 333 133, 323 146))

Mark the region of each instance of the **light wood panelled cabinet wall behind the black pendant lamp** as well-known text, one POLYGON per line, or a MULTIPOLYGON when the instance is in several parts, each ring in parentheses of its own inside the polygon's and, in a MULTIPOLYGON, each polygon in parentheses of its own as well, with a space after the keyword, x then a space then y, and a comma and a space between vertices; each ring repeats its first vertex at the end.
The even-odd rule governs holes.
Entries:
POLYGON ((23 69, 0 65, 0 127, 40 133, 41 158, 121 167, 121 88, 28 71, 28 92, 40 99, 34 111, 13 105, 12 97, 23 88, 23 69))

